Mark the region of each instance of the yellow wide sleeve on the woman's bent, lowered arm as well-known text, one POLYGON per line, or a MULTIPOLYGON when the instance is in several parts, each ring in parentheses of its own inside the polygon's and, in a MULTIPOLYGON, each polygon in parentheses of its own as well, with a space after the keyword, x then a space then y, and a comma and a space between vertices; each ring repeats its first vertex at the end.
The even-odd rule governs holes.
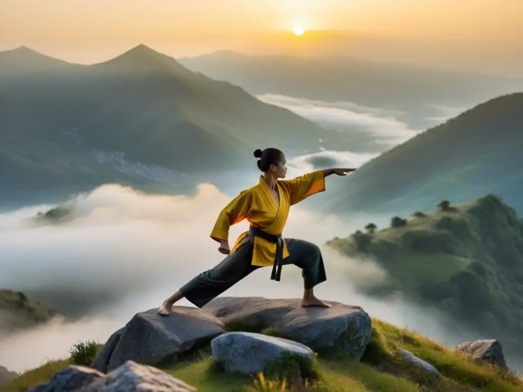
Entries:
POLYGON ((229 240, 229 228, 249 215, 251 209, 252 193, 248 190, 240 192, 231 202, 224 207, 218 215, 211 232, 211 238, 220 241, 229 240))

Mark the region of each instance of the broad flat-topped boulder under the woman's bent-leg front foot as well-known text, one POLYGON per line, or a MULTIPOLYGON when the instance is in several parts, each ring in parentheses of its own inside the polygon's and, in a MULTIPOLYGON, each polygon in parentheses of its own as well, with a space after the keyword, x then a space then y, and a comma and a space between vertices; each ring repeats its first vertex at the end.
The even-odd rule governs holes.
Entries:
POLYGON ((342 348, 360 360, 372 332, 369 315, 359 306, 331 302, 332 308, 302 307, 301 299, 261 297, 218 297, 203 309, 225 323, 242 320, 247 325, 263 325, 314 350, 342 348))

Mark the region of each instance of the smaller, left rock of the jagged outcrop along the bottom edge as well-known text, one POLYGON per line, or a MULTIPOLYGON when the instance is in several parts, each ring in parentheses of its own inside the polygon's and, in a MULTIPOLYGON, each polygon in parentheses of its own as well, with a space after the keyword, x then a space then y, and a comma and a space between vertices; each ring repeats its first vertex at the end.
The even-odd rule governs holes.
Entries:
POLYGON ((49 381, 29 389, 28 392, 73 392, 81 390, 104 376, 104 373, 89 367, 67 366, 64 370, 52 376, 49 381))

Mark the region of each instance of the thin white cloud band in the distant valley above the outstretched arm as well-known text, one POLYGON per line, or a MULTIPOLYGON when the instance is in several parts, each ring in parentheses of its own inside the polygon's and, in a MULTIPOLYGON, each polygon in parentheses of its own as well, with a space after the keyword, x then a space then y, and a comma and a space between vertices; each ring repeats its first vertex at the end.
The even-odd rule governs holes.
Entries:
POLYGON ((342 126, 370 133, 378 138, 378 143, 395 145, 411 139, 420 131, 398 120, 404 114, 399 111, 370 108, 353 102, 325 102, 277 94, 265 94, 257 98, 289 109, 327 128, 342 126))

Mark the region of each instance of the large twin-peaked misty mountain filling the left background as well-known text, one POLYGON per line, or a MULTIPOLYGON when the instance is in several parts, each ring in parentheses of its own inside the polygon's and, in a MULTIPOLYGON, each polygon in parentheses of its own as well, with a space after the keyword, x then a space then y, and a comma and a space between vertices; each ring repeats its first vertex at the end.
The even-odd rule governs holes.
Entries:
POLYGON ((145 45, 89 66, 19 48, 0 53, 0 70, 0 202, 113 181, 172 190, 199 172, 254 170, 256 148, 348 143, 145 45))

